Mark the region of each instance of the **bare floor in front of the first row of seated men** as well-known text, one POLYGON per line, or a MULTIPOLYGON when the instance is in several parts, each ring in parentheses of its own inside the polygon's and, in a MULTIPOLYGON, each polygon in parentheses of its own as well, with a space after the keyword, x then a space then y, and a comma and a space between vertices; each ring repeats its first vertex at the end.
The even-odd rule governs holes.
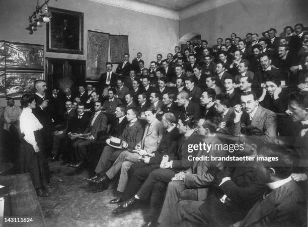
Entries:
POLYGON ((109 200, 117 196, 116 185, 100 193, 87 192, 87 177, 84 171, 79 175, 59 162, 50 163, 52 175, 49 197, 40 197, 39 201, 47 226, 134 226, 145 223, 147 208, 131 210, 117 216, 111 214, 116 205, 109 200))

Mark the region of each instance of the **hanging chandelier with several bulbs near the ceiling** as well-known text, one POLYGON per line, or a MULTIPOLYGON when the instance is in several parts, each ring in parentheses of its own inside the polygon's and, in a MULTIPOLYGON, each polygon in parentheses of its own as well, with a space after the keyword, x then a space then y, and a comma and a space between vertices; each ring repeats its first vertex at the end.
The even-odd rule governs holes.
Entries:
MULTIPOLYGON (((55 0, 57 2, 57 0, 55 0)), ((37 30, 37 27, 42 27, 43 23, 48 23, 52 15, 48 12, 48 2, 49 0, 45 0, 44 4, 39 6, 38 0, 36 4, 36 10, 33 14, 29 17, 29 26, 26 30, 29 31, 29 34, 32 35, 33 32, 37 30), (44 13, 42 9, 44 8, 44 13)))

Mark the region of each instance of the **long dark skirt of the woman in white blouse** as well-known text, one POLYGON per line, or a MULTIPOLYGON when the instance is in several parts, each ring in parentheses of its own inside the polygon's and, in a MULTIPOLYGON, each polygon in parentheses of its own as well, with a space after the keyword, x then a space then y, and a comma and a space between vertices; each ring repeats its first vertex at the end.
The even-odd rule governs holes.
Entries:
POLYGON ((45 157, 45 146, 41 132, 34 131, 34 136, 40 152, 35 153, 33 146, 25 139, 22 139, 19 146, 17 172, 19 174, 30 173, 33 186, 37 189, 49 183, 50 172, 45 157))

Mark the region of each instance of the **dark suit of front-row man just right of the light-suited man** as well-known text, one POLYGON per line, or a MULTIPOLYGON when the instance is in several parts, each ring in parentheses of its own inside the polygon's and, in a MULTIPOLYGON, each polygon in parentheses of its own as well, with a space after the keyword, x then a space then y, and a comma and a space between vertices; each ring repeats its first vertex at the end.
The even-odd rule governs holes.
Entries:
POLYGON ((140 189, 142 183, 148 175, 161 163, 164 155, 168 155, 170 160, 174 159, 179 140, 179 130, 175 127, 170 132, 166 131, 158 149, 154 152, 155 156, 150 158, 149 164, 135 163, 130 168, 131 178, 121 197, 126 200, 134 196, 140 189))

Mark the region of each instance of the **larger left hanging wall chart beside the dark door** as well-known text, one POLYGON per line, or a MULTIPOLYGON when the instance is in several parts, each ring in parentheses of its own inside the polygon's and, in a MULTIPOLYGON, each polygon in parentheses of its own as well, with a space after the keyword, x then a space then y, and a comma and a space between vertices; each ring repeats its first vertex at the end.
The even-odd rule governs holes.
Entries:
POLYGON ((99 81, 106 71, 109 34, 88 30, 87 81, 99 81))

